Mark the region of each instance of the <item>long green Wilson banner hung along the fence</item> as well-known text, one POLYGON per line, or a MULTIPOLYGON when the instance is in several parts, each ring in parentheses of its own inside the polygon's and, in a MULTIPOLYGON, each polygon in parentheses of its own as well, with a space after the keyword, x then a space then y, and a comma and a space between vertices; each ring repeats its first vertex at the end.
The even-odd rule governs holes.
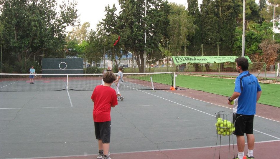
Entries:
MULTIPOLYGON (((235 62, 237 56, 172 56, 174 64, 235 62)), ((245 56, 252 63, 248 56, 245 56)))

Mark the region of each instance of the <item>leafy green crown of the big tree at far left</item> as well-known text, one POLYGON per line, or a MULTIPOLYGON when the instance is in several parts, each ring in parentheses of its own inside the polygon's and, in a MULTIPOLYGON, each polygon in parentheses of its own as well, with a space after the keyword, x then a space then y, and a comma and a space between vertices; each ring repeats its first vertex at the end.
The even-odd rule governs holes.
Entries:
POLYGON ((42 54, 43 49, 48 54, 64 54, 65 28, 74 26, 77 19, 75 1, 63 2, 58 12, 55 0, 0 0, 0 4, 0 36, 7 63, 13 65, 16 61, 26 65, 35 54, 42 54))

